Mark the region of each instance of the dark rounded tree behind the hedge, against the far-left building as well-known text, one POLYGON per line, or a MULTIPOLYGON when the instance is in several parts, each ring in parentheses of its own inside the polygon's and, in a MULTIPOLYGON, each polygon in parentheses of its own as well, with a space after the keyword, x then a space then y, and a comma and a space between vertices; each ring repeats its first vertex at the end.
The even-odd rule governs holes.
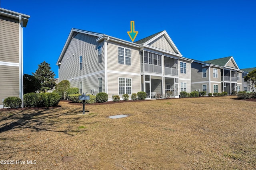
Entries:
POLYGON ((24 74, 23 76, 23 90, 24 94, 26 93, 32 93, 36 90, 40 90, 41 84, 38 82, 38 80, 29 74, 24 74))

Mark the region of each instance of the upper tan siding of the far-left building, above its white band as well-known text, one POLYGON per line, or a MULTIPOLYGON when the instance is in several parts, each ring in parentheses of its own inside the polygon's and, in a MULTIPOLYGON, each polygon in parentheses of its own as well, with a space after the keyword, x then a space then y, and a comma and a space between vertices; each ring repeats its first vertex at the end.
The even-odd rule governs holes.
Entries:
POLYGON ((0 61, 19 63, 19 23, 0 16, 0 61))

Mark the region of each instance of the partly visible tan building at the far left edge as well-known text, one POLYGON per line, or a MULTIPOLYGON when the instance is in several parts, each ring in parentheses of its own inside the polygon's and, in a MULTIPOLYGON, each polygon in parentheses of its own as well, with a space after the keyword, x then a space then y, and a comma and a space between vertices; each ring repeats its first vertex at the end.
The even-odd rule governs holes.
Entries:
POLYGON ((0 108, 9 96, 23 101, 23 27, 29 18, 0 8, 0 108))

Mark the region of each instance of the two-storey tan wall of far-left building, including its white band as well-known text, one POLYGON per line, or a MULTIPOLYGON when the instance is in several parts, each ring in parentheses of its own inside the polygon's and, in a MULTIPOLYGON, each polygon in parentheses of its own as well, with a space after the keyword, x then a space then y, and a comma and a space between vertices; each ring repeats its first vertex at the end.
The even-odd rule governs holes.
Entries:
POLYGON ((0 16, 0 105, 4 98, 20 97, 19 48, 18 20, 0 16))

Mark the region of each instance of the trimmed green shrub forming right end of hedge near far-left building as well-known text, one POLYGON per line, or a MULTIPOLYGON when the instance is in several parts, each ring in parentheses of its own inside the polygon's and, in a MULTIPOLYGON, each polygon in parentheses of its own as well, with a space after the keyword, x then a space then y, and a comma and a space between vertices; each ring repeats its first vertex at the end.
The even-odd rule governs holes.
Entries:
POLYGON ((57 93, 39 93, 42 96, 43 106, 57 106, 60 102, 60 95, 57 93))

